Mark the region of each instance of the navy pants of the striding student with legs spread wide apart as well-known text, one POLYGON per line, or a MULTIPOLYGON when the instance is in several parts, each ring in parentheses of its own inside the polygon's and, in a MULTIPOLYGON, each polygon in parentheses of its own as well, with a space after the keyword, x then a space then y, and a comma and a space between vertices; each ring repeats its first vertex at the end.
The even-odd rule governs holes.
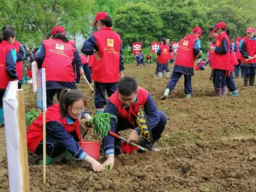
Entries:
POLYGON ((184 75, 184 92, 185 94, 192 94, 193 89, 192 89, 192 80, 191 80, 191 75, 185 75, 183 73, 178 73, 173 71, 171 73, 171 79, 168 82, 168 85, 166 88, 169 88, 170 91, 174 90, 178 80, 181 78, 181 76, 184 75))

